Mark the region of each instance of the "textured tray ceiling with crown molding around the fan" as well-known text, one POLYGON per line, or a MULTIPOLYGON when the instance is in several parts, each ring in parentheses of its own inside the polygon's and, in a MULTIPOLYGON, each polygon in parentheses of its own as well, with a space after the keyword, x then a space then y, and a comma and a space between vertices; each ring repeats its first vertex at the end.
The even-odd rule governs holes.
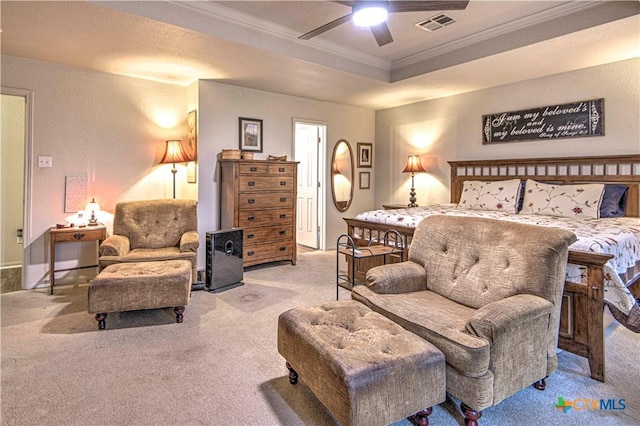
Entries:
POLYGON ((637 1, 477 1, 392 14, 394 42, 343 24, 334 2, 0 2, 2 54, 190 84, 196 79, 382 109, 640 56, 637 1))

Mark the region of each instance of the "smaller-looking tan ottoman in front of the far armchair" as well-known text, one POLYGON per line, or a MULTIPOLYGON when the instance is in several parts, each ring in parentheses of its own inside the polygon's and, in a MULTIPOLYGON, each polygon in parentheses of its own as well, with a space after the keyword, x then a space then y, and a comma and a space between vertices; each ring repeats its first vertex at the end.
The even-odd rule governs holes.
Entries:
POLYGON ((107 312, 173 307, 182 322, 191 295, 191 262, 117 263, 104 268, 89 284, 88 311, 104 330, 107 312))

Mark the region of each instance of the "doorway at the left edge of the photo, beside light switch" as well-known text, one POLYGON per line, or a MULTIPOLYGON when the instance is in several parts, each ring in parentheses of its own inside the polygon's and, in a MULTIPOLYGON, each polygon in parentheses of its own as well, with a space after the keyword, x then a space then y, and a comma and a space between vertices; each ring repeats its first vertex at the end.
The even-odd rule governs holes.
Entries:
POLYGON ((32 92, 2 88, 0 137, 0 282, 1 292, 21 290, 27 282, 25 262, 29 230, 28 159, 32 92), (24 243, 25 239, 27 244, 24 243))

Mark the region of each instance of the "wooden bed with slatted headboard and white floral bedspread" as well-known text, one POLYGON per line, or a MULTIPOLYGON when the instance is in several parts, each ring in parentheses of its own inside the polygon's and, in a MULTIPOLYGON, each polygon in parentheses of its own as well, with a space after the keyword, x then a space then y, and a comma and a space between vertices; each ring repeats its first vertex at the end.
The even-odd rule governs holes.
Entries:
MULTIPOLYGON (((495 211, 461 208, 464 188, 474 182, 505 182, 533 180, 549 185, 606 184, 627 187, 624 217, 615 219, 585 219, 585 224, 541 214, 530 215, 527 221, 544 226, 569 228, 578 235, 570 247, 567 281, 563 294, 559 347, 589 362, 591 377, 605 380, 604 306, 607 303, 628 314, 635 298, 640 296, 640 154, 604 157, 533 158, 507 160, 450 161, 451 204, 429 206, 426 214, 473 214, 500 220, 522 221, 522 214, 498 214, 495 211), (473 181, 468 182, 467 181, 473 181), (520 217, 518 217, 520 216, 520 217), (515 218, 514 218, 515 217, 515 218), (604 225, 604 223, 609 223, 604 225), (583 228, 580 228, 580 227, 583 228), (586 226, 587 231, 585 231, 586 226), (617 226, 625 228, 625 238, 619 237, 617 226), (606 228, 610 233, 599 234, 606 228), (611 234, 613 233, 613 234, 611 234), (628 234, 632 234, 629 236, 628 234), (589 234, 589 235, 585 235, 589 234), (594 238, 596 241, 588 240, 594 238), (628 237, 628 238, 627 238, 628 237), (624 240, 622 242, 618 240, 624 240)), ((525 195, 526 196, 526 195, 525 195)), ((526 200, 525 200, 526 201, 526 200)), ((345 218, 347 233, 359 245, 367 245, 389 229, 402 236, 402 246, 409 248, 415 224, 423 208, 377 210, 345 218), (395 219, 391 219, 395 217, 395 219)), ((575 221, 580 222, 580 221, 575 221)), ((396 261, 406 259, 407 250, 396 261)), ((375 266, 374 259, 359 262, 348 273, 355 280, 375 266)), ((637 306, 635 307, 637 308, 637 306)), ((634 309, 635 309, 634 308, 634 309)), ((612 313, 615 309, 612 309, 612 313)), ((637 311, 634 311, 637 313, 637 311)), ((620 313, 620 311, 618 311, 620 313)), ((614 315, 615 316, 615 315, 614 315)))

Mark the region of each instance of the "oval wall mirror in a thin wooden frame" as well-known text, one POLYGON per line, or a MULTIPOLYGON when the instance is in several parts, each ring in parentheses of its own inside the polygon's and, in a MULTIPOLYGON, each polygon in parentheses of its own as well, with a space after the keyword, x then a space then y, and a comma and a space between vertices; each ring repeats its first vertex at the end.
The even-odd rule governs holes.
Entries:
POLYGON ((345 139, 333 148, 331 157, 331 195, 336 209, 345 212, 353 200, 353 151, 345 139))

